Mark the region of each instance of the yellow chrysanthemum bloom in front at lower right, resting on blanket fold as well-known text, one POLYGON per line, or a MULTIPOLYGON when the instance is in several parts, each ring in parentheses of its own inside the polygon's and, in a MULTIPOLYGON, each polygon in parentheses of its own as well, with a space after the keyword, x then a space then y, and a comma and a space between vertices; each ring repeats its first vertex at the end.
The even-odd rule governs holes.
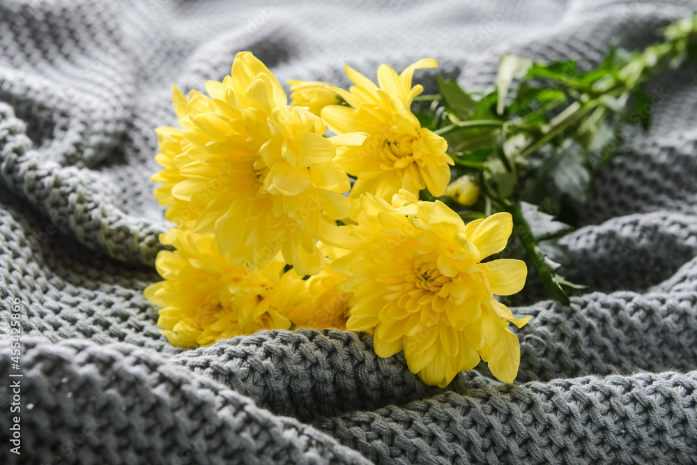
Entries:
POLYGON ((402 191, 390 205, 362 197, 358 226, 348 234, 353 252, 332 263, 353 293, 349 330, 373 330, 378 356, 404 350, 408 367, 428 384, 447 386, 480 358, 512 383, 520 344, 507 326, 523 326, 494 295, 525 284, 523 261, 482 259, 500 252, 512 232, 508 213, 464 224, 441 201, 417 202, 402 191))

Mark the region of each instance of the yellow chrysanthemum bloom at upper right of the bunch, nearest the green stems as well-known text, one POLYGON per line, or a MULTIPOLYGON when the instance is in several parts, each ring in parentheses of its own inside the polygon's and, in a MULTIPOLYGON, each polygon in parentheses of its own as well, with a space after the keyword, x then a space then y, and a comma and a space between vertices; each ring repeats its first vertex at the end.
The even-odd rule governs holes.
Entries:
POLYGON ((401 189, 417 194, 424 187, 433 195, 443 195, 454 164, 445 153, 447 142, 422 128, 410 109, 413 98, 423 91, 420 85, 411 86, 414 71, 437 66, 433 59, 422 59, 397 75, 381 65, 380 86, 346 66, 355 86, 350 91, 332 89, 351 107, 324 107, 322 118, 335 134, 368 134, 361 146, 342 149, 337 156, 337 164, 357 178, 351 198, 369 192, 390 201, 401 189))

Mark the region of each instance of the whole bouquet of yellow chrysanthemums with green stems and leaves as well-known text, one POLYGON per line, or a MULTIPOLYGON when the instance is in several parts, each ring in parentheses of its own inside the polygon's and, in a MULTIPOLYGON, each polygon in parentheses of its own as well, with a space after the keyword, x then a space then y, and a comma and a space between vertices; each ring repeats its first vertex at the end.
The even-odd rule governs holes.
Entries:
POLYGON ((346 66, 348 90, 291 81, 289 105, 250 52, 207 95, 173 88, 181 128, 158 128, 153 181, 176 228, 160 238, 163 281, 146 289, 162 333, 187 347, 263 329, 367 331, 378 356, 404 351, 425 383, 445 387, 480 360, 511 383, 510 323, 529 317, 502 296, 523 289, 526 261, 561 303, 582 288, 544 252, 572 229, 545 211, 583 201, 620 124, 648 124, 641 84, 694 55, 696 35, 692 17, 584 72, 503 56, 482 93, 437 76, 422 96, 414 74, 438 66, 422 59, 380 66, 377 84, 346 66))

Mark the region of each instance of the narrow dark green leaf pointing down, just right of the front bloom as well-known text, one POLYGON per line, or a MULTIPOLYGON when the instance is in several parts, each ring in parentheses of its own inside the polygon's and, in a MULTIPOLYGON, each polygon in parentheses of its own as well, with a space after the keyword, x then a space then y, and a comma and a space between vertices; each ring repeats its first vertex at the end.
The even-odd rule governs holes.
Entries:
POLYGON ((567 296, 557 280, 556 269, 558 268, 558 264, 548 259, 546 254, 542 252, 539 241, 535 238, 530 224, 523 216, 521 204, 511 205, 509 213, 513 216, 515 230, 523 243, 523 247, 525 247, 526 252, 528 252, 528 258, 535 267, 535 270, 537 270, 537 275, 539 275, 540 280, 542 280, 542 285, 547 291, 547 294, 563 305, 571 305, 569 296, 567 296))

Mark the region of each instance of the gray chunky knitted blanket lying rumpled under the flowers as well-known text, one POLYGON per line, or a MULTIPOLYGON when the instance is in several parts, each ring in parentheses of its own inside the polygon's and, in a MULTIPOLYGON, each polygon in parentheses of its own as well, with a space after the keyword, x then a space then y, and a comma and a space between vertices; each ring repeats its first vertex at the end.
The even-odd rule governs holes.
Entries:
POLYGON ((281 82, 431 56, 483 89, 499 54, 588 68, 612 38, 644 47, 696 9, 0 0, 0 462, 697 463, 694 62, 652 82, 650 131, 627 128, 563 239, 588 291, 514 309, 532 317, 514 385, 479 367, 425 386, 339 330, 177 351, 143 296, 167 228, 149 177, 172 83, 203 89, 250 50, 281 82))

